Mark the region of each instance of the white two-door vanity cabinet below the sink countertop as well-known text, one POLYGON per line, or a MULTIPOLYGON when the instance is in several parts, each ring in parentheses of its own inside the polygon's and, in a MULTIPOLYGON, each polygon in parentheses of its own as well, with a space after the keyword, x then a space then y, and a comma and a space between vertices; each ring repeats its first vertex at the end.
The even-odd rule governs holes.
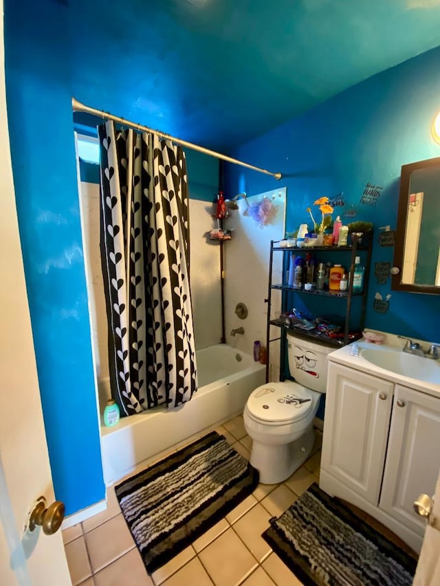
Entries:
POLYGON ((419 551, 413 502, 434 493, 440 398, 329 361, 320 487, 384 523, 419 551))

